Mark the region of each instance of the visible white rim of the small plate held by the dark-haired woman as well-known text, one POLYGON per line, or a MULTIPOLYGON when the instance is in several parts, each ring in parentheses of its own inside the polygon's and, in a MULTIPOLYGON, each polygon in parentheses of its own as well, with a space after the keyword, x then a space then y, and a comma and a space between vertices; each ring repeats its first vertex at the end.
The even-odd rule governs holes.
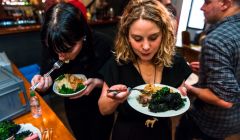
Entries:
MULTIPOLYGON (((86 76, 83 75, 83 74, 73 74, 73 75, 75 75, 75 76, 83 79, 84 81, 87 80, 86 76)), ((57 85, 57 84, 56 84, 56 81, 54 81, 54 83, 53 83, 53 91, 54 91, 57 95, 63 96, 63 97, 72 97, 72 96, 74 96, 74 95, 80 94, 82 91, 84 91, 84 90, 87 88, 87 86, 85 86, 82 90, 79 90, 78 92, 74 92, 74 93, 71 93, 71 94, 62 94, 62 93, 59 93, 59 92, 58 92, 58 90, 57 90, 57 88, 56 88, 56 85, 57 85)))

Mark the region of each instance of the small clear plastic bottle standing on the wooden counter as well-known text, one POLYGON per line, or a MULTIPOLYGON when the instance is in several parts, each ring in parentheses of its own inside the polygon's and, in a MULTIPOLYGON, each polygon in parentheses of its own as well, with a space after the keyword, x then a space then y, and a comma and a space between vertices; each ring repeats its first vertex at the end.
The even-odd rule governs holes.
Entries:
POLYGON ((33 118, 39 118, 42 116, 42 109, 38 97, 34 91, 30 91, 30 108, 33 118))

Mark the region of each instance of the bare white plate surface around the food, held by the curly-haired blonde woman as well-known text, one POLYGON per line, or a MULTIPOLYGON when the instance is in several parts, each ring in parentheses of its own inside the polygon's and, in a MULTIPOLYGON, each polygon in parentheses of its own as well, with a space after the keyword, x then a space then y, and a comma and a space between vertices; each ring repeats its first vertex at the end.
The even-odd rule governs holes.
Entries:
MULTIPOLYGON (((180 93, 180 91, 176 88, 173 88, 173 87, 170 87, 170 86, 167 86, 167 85, 162 85, 162 84, 155 84, 156 86, 160 86, 160 87, 169 87, 170 89, 172 89, 174 92, 178 92, 180 93)), ((140 86, 137 86, 137 87, 134 87, 134 88, 137 88, 137 89, 144 89, 144 87, 146 86, 146 84, 144 85, 140 85, 140 86)), ((186 112, 189 107, 190 107, 190 100, 187 96, 182 96, 182 98, 186 99, 186 101, 184 102, 184 106, 182 108, 180 108, 179 110, 168 110, 168 111, 165 111, 165 112, 151 112, 149 109, 148 109, 148 106, 145 106, 143 107, 142 104, 140 104, 137 100, 139 94, 141 94, 139 91, 136 91, 136 90, 133 90, 131 91, 131 94, 128 96, 128 104, 134 108, 135 110, 143 113, 143 114, 146 114, 146 115, 149 115, 149 116, 154 116, 154 117, 173 117, 173 116, 177 116, 177 115, 180 115, 184 112, 186 112)))

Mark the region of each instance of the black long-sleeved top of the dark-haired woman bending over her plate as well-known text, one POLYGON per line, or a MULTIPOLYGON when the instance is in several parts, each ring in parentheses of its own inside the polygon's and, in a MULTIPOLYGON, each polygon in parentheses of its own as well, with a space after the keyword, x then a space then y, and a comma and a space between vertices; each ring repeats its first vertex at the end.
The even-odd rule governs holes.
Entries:
MULTIPOLYGON (((113 42, 108 36, 93 32, 92 46, 87 43, 89 43, 88 40, 83 42, 83 48, 74 60, 63 64, 60 69, 51 74, 53 80, 65 73, 84 74, 87 78, 103 78, 98 70, 110 58, 113 42)), ((49 71, 57 59, 57 54, 56 56, 50 55, 48 49, 44 47, 41 74, 49 71)), ((54 94, 52 87, 46 94, 54 94)), ((109 138, 113 116, 100 115, 98 109, 100 94, 101 88, 94 88, 88 96, 78 99, 64 98, 68 122, 76 139, 106 140, 109 138)))

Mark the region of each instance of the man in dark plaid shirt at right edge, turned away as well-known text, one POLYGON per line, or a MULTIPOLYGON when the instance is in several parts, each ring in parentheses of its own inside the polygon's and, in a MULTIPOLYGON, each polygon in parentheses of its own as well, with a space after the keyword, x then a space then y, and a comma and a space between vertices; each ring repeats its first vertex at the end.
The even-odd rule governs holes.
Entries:
POLYGON ((205 0, 201 10, 211 27, 198 85, 185 85, 196 100, 181 118, 176 140, 223 140, 240 132, 240 0, 205 0))

